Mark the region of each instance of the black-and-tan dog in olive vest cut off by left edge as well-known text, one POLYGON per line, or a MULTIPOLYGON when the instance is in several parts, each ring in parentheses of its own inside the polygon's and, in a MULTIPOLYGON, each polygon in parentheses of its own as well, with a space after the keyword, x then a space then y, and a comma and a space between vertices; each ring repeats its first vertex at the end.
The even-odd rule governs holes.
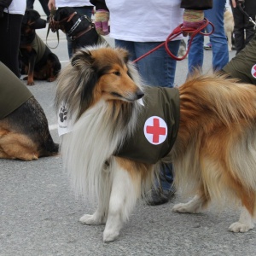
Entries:
POLYGON ((0 158, 37 160, 58 154, 43 108, 0 62, 0 158))

